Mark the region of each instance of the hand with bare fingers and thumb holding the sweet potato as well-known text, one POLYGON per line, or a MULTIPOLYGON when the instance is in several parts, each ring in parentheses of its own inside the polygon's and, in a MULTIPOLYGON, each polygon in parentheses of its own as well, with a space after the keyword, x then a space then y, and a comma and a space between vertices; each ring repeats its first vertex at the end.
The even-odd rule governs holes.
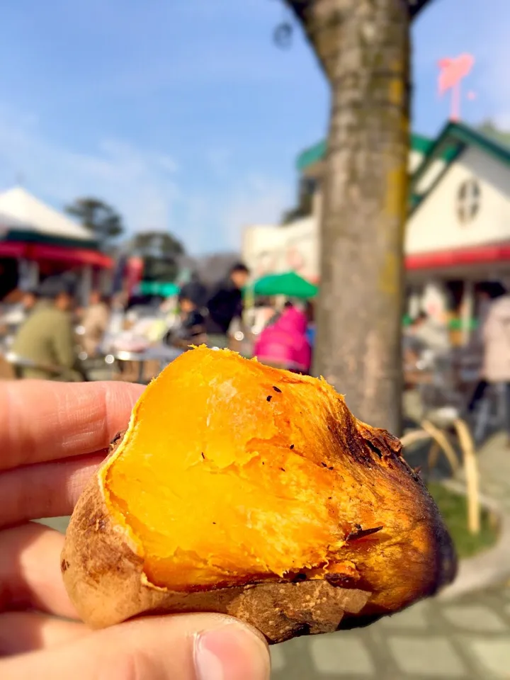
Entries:
POLYGON ((0 677, 266 680, 265 642, 220 614, 91 631, 64 589, 64 537, 30 520, 72 513, 128 423, 140 385, 4 382, 0 389, 0 677))

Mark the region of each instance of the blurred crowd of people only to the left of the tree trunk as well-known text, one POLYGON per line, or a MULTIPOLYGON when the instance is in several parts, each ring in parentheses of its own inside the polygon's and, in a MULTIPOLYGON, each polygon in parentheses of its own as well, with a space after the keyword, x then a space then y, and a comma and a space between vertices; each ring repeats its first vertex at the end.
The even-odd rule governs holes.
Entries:
POLYGON ((249 269, 237 263, 212 289, 196 276, 181 287, 177 300, 123 294, 111 298, 92 290, 83 308, 73 285, 50 277, 25 289, 18 302, 18 324, 9 350, 21 361, 18 375, 52 380, 86 379, 79 358, 108 352, 143 351, 191 345, 234 348, 280 368, 310 371, 313 319, 310 303, 256 300, 257 323, 246 323, 243 291, 249 269), (263 312, 262 316, 260 312, 263 312), (241 341, 242 340, 242 341, 241 341))

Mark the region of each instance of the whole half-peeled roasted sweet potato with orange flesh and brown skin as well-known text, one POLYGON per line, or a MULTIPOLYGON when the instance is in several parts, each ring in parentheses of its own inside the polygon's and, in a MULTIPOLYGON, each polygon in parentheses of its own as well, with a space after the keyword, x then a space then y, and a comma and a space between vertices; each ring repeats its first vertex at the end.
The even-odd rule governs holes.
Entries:
POLYGON ((75 510, 69 594, 93 625, 202 603, 271 641, 397 611, 455 572, 400 449, 324 380, 188 351, 147 387, 75 510), (281 630, 261 611, 278 606, 281 630))

